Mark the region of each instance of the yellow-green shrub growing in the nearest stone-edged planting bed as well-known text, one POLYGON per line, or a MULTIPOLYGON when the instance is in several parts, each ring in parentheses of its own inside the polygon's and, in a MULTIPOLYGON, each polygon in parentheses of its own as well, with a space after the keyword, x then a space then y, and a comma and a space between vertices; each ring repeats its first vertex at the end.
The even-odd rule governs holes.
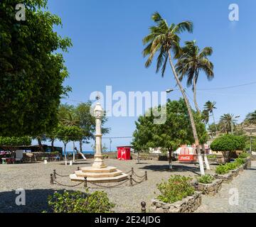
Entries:
POLYGON ((191 185, 191 177, 181 175, 171 176, 166 182, 156 184, 161 192, 157 199, 166 203, 174 203, 175 201, 182 200, 186 196, 191 196, 195 189, 191 185))

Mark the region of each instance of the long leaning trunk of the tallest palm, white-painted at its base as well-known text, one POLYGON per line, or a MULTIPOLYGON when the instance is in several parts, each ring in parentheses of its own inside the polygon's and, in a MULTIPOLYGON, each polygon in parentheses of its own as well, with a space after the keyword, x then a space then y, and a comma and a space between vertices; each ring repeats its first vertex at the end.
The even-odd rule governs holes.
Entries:
POLYGON ((189 118, 190 118, 190 121, 191 121, 191 127, 192 127, 192 131, 193 131, 193 138, 195 139, 196 150, 197 150, 197 153, 198 153, 198 161, 199 161, 199 166, 200 166, 200 172, 201 172, 201 175, 205 175, 205 172, 204 172, 204 169, 203 169, 203 158, 202 158, 202 155, 201 155, 201 150, 199 148, 199 140, 198 140, 198 135, 197 135, 197 132, 196 132, 196 124, 195 124, 195 121, 193 119, 191 106, 188 102, 188 98, 185 94, 185 91, 182 87, 182 84, 181 84, 180 80, 178 79, 178 75, 176 73, 174 64, 171 61, 171 52, 170 51, 168 52, 168 55, 169 55, 169 62, 170 62, 170 65, 171 65, 171 70, 174 73, 174 77, 176 79, 176 82, 178 84, 179 89, 181 90, 181 93, 183 95, 183 99, 185 100, 185 103, 186 103, 186 106, 187 106, 187 109, 188 109, 188 115, 189 115, 189 118))

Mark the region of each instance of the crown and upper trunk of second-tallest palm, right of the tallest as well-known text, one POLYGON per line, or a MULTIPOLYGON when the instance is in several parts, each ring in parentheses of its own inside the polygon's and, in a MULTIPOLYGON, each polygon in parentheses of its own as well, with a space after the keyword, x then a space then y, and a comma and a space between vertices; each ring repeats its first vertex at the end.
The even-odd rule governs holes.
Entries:
POLYGON ((198 81, 199 72, 205 72, 207 79, 213 79, 213 63, 208 60, 208 56, 212 55, 213 49, 210 47, 200 50, 196 45, 196 40, 187 41, 186 45, 182 48, 181 57, 179 57, 176 64, 176 70, 181 75, 180 80, 184 76, 187 76, 187 86, 190 87, 193 84, 193 101, 196 106, 196 110, 200 113, 196 101, 196 83, 198 81))

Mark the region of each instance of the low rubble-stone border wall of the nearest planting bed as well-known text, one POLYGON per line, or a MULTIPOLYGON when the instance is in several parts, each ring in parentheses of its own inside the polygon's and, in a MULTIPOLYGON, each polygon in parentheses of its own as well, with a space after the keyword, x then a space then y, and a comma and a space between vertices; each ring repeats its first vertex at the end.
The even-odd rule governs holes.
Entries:
POLYGON ((158 199, 151 200, 149 213, 192 213, 196 211, 202 202, 202 192, 195 192, 181 201, 166 204, 158 199))

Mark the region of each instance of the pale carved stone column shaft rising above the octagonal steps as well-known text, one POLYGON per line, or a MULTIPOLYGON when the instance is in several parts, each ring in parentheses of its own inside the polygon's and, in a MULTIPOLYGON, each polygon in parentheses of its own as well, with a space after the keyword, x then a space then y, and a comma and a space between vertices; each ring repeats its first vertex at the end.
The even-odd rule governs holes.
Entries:
POLYGON ((100 102, 97 102, 94 109, 94 116, 96 118, 96 134, 95 134, 95 160, 92 167, 105 168, 107 167, 102 160, 102 132, 101 132, 101 121, 104 111, 100 102))

